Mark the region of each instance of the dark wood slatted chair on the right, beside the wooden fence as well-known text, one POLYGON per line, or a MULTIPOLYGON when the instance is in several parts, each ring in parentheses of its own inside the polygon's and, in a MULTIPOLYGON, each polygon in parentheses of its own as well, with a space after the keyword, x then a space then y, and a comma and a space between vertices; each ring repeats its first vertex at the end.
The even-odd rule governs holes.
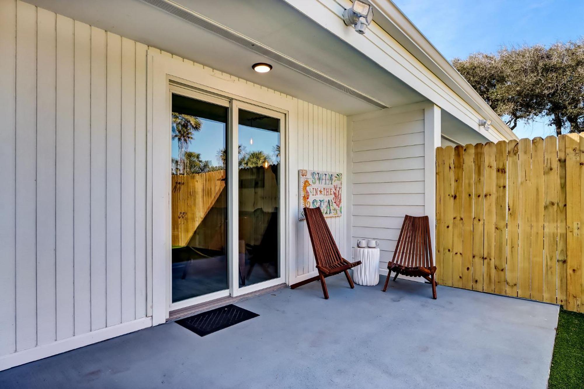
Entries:
POLYGON ((409 216, 404 218, 404 224, 394 258, 387 263, 387 279, 383 291, 387 290, 391 272, 395 272, 394 281, 398 275, 423 277, 432 284, 432 298, 436 298, 436 266, 432 260, 432 244, 430 244, 430 223, 427 216, 409 216))

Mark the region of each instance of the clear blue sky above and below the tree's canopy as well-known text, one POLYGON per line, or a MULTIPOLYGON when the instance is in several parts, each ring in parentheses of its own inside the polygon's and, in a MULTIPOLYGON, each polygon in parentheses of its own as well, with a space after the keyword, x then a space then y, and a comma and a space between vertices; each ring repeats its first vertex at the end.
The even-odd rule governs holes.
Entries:
MULTIPOLYGON (((584 0, 392 0, 446 57, 493 53, 505 44, 545 44, 584 36, 584 0)), ((547 119, 518 124, 520 138, 554 134, 547 119)))

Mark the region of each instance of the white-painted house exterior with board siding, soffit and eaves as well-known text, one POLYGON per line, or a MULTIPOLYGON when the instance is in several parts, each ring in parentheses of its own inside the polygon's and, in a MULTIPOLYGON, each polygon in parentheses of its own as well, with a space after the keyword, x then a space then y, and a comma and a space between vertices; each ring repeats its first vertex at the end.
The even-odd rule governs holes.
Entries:
POLYGON ((378 239, 383 272, 404 215, 434 220, 435 148, 515 135, 390 0, 370 2, 361 35, 343 23, 349 0, 0 0, 0 370, 314 276, 299 169, 343 174, 329 227, 343 256, 378 239), (228 286, 182 303, 173 93, 227 110, 232 172, 228 286), (242 110, 279 120, 281 150, 279 271, 247 286, 242 110))

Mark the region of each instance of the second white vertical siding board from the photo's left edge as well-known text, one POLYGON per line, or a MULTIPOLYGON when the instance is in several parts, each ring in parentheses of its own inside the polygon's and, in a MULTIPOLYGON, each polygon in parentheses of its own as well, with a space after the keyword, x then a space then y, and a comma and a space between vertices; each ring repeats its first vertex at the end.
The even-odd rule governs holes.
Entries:
POLYGON ((16 350, 37 345, 37 9, 16 3, 16 350))

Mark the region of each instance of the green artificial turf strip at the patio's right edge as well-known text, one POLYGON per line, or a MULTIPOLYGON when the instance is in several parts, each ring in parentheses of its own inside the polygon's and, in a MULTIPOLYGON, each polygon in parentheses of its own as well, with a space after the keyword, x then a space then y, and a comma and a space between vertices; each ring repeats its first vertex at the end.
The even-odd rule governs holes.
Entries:
POLYGON ((548 388, 583 387, 584 314, 560 310, 548 388))

